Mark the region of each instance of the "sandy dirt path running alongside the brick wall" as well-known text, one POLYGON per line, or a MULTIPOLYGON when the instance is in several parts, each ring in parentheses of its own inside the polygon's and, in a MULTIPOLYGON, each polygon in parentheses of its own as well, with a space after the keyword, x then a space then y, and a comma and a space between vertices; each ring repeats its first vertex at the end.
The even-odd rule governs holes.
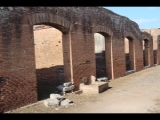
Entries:
POLYGON ((45 107, 43 101, 6 113, 160 113, 160 66, 109 82, 99 95, 67 94, 68 107, 45 107))

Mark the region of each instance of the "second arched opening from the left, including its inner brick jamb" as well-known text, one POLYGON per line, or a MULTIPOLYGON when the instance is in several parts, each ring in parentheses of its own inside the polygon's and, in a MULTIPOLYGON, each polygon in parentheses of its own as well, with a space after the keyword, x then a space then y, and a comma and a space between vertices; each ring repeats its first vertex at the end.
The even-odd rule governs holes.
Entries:
POLYGON ((96 78, 113 78, 112 60, 111 60, 111 37, 107 33, 95 33, 95 61, 96 78))

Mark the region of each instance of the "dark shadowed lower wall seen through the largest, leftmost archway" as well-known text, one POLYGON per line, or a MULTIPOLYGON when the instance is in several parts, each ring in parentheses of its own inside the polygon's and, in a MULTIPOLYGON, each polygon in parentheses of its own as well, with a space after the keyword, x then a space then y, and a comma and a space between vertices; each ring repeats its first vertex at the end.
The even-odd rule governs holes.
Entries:
POLYGON ((47 99, 64 82, 64 66, 36 69, 36 76, 38 100, 47 99))

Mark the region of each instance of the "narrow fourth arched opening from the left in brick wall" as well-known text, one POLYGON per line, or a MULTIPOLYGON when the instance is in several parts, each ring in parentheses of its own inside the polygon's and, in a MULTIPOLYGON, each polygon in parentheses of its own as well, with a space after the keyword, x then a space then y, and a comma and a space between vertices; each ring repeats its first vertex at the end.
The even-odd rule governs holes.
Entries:
POLYGON ((150 58, 149 40, 144 39, 143 40, 143 65, 145 68, 150 66, 149 58, 150 58))

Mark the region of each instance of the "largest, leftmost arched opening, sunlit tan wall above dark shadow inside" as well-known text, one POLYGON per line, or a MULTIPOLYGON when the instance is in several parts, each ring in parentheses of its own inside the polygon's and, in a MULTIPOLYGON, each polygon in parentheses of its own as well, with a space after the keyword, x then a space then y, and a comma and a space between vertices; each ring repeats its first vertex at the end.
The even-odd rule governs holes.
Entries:
POLYGON ((38 100, 49 98, 64 80, 62 33, 47 25, 34 25, 38 100))

